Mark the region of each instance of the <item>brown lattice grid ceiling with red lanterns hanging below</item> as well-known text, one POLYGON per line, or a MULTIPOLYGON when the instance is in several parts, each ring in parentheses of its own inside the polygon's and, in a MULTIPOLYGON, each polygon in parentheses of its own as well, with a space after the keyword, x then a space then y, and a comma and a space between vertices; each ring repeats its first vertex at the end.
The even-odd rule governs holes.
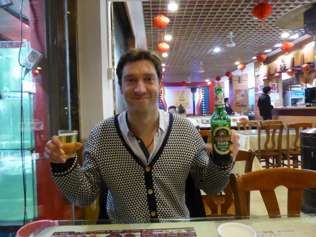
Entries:
POLYGON ((252 15, 252 9, 258 4, 258 0, 176 2, 179 7, 175 12, 168 10, 169 1, 143 2, 148 49, 158 52, 157 45, 162 42, 160 33, 172 35, 171 41, 165 41, 170 46, 168 57, 161 57, 166 64, 164 82, 182 82, 188 77, 192 82, 214 80, 216 76, 223 76, 226 71, 236 70, 236 61, 248 64, 258 53, 264 53, 266 49, 275 50, 275 44, 285 40, 292 41, 281 38, 283 32, 302 36, 303 29, 284 30, 277 27, 275 21, 285 12, 313 1, 268 1, 273 11, 264 20, 263 28, 260 27, 262 21, 254 20, 252 15), (158 14, 170 19, 166 28, 157 29, 152 26, 152 20, 158 14), (233 32, 233 41, 236 43, 232 48, 226 47, 229 31, 233 32), (221 51, 212 52, 215 47, 220 47, 221 51), (197 72, 200 62, 203 62, 204 73, 197 72))

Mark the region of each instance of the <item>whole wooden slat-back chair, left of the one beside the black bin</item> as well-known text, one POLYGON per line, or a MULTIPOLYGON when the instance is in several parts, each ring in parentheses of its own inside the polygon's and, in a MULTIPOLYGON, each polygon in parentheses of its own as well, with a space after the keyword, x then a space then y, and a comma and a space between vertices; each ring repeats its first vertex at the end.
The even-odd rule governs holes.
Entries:
MULTIPOLYGON (((281 147, 282 147, 282 132, 283 132, 283 124, 272 124, 272 125, 261 125, 258 126, 258 151, 256 151, 258 155, 258 160, 260 162, 264 161, 265 165, 263 168, 270 167, 281 167, 281 147), (266 132, 266 140, 264 143, 264 149, 261 150, 261 133, 265 130, 266 132), (270 130, 272 130, 272 134, 270 134, 270 130), (277 149, 276 149, 276 131, 279 130, 278 140, 277 140, 277 149), (271 141, 272 147, 269 148, 268 144, 271 141), (272 163, 270 162, 272 159, 272 163)), ((269 146, 271 146, 269 144, 269 146)))

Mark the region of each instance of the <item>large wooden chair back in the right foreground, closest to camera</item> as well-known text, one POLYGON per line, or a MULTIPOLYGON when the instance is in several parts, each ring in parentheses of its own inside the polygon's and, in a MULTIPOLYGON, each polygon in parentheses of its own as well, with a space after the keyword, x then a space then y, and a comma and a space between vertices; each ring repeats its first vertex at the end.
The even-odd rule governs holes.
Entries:
POLYGON ((245 174, 230 174, 230 185, 234 193, 236 216, 249 216, 249 201, 245 192, 259 190, 270 218, 280 217, 280 209, 274 189, 288 188, 288 216, 298 216, 301 211, 303 188, 316 187, 316 171, 275 168, 252 171, 245 174))

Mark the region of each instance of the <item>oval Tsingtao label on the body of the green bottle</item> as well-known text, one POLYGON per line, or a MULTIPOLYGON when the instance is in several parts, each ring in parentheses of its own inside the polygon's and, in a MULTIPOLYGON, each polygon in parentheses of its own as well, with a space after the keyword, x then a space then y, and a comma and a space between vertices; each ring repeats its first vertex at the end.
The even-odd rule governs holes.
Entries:
POLYGON ((220 126, 214 129, 213 147, 218 154, 226 155, 229 153, 231 131, 226 126, 220 126))

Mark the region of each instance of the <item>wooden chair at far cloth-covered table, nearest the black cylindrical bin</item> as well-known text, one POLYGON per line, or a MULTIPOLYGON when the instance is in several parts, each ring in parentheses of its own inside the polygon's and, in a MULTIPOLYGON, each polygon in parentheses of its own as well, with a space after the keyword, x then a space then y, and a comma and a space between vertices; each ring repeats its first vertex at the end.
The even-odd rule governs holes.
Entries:
POLYGON ((297 145, 298 140, 300 139, 300 131, 299 129, 302 128, 303 130, 307 129, 307 128, 311 128, 312 127, 312 123, 294 123, 294 124, 287 124, 287 131, 286 131, 286 149, 282 149, 281 153, 282 153, 282 165, 283 167, 290 167, 293 166, 294 167, 298 167, 300 164, 300 161, 298 160, 298 156, 301 155, 301 149, 300 147, 297 145), (294 128, 295 129, 295 140, 293 142, 293 149, 290 149, 290 139, 289 139, 289 131, 290 128, 294 128), (288 161, 287 164, 284 163, 284 161, 288 161), (290 161, 292 160, 292 164, 290 163, 290 161))

